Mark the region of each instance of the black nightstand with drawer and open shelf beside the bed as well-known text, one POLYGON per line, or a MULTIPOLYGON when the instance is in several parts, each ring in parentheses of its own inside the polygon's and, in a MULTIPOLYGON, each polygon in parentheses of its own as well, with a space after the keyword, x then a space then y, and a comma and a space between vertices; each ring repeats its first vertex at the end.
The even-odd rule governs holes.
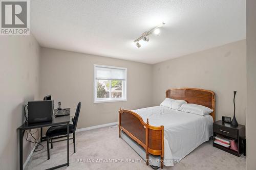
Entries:
POLYGON ((240 157, 243 154, 243 148, 241 147, 242 137, 245 136, 245 126, 244 125, 238 125, 237 128, 234 128, 230 126, 228 123, 222 122, 222 120, 218 120, 214 123, 214 137, 217 135, 223 135, 225 137, 236 139, 238 144, 238 152, 231 150, 229 148, 223 147, 220 144, 214 143, 213 146, 216 148, 219 148, 223 151, 226 151, 230 154, 236 155, 240 157))

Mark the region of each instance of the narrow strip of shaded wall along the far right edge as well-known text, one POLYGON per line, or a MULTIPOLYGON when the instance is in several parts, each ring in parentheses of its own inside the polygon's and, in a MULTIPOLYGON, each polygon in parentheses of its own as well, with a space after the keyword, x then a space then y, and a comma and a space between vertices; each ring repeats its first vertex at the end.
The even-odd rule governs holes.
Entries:
POLYGON ((256 1, 247 1, 246 142, 248 170, 256 169, 256 1))

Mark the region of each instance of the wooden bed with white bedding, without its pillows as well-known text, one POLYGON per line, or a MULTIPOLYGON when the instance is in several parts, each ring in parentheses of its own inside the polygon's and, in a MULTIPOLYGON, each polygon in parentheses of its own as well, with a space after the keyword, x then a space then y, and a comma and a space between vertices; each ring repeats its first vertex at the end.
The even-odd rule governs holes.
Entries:
POLYGON ((206 106, 212 113, 201 116, 164 106, 137 110, 119 109, 119 137, 153 167, 172 166, 212 135, 215 93, 195 88, 166 90, 166 98, 206 106))

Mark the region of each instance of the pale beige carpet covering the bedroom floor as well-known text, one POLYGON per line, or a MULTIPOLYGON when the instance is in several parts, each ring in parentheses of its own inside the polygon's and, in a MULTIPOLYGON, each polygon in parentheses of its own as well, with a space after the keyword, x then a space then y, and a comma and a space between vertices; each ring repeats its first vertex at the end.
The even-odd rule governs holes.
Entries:
MULTIPOLYGON (((67 160, 67 142, 53 143, 51 159, 47 160, 46 143, 43 151, 34 152, 26 169, 46 169, 65 163, 67 160)), ((141 157, 118 137, 118 128, 100 128, 76 133, 76 153, 70 140, 70 166, 59 169, 150 169, 145 163, 138 163, 141 157), (119 159, 124 163, 77 163, 77 159, 119 159), (128 159, 128 160, 127 160, 128 159), (125 163, 129 161, 132 163, 125 163)), ((246 169, 246 157, 240 158, 212 147, 212 141, 201 144, 180 163, 164 169, 246 169)))

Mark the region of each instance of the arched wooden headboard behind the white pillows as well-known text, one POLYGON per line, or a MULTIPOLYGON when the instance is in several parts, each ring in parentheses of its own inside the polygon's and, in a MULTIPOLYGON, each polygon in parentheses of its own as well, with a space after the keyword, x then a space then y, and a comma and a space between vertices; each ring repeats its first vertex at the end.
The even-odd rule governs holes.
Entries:
POLYGON ((215 93, 213 91, 197 88, 173 88, 166 90, 166 98, 206 106, 214 110, 210 115, 215 121, 215 93))

